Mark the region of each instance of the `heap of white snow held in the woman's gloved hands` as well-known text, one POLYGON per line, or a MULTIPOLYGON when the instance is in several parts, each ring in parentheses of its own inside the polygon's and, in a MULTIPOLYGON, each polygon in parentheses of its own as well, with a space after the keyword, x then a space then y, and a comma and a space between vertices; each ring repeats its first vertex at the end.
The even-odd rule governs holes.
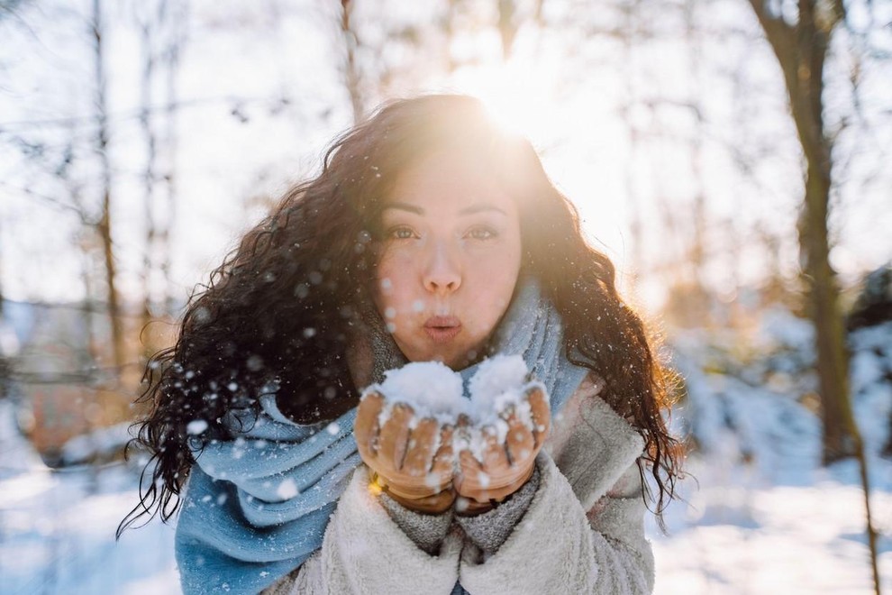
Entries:
POLYGON ((483 460, 485 436, 496 434, 500 444, 508 433, 507 419, 514 414, 526 427, 535 427, 529 397, 537 389, 545 394, 542 382, 531 380, 520 355, 496 355, 482 362, 469 380, 465 397, 461 375, 440 362, 412 362, 384 374, 385 380, 363 391, 363 398, 378 393, 386 405, 378 417, 383 427, 396 404, 412 407, 416 425, 432 417, 443 426, 459 426, 454 433, 455 452, 469 450, 483 460))

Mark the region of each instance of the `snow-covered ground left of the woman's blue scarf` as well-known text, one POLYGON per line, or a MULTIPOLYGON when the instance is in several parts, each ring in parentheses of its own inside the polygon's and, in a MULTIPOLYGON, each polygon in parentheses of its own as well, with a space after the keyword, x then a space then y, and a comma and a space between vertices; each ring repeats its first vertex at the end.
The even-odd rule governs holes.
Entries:
POLYGON ((176 593, 173 531, 151 523, 120 542, 138 475, 123 465, 50 471, 0 403, 0 592, 176 593))

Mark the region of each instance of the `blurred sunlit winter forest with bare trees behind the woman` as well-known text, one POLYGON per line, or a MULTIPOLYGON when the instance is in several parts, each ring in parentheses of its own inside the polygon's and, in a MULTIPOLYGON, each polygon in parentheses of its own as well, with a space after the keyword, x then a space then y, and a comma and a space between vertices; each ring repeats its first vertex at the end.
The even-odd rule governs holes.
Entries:
POLYGON ((777 586, 708 553, 772 527, 848 569, 826 592, 892 589, 892 2, 0 0, 4 590, 176 584, 163 553, 73 578, 111 536, 66 519, 135 503, 147 357, 327 142, 432 91, 531 138, 685 378, 696 513, 653 537, 658 590, 777 586), (778 529, 793 500, 840 524, 778 529))

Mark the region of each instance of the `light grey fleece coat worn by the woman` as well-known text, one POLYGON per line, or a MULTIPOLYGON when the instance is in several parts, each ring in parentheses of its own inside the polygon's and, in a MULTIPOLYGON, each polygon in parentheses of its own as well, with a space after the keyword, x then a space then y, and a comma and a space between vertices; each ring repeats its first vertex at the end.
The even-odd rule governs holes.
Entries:
POLYGON ((458 581, 470 593, 650 593, 654 563, 637 466, 644 442, 596 396, 602 388, 584 382, 552 420, 525 512, 493 516, 510 523, 494 531, 506 535, 495 552, 481 551, 457 525, 439 547, 413 540, 369 490, 363 465, 322 548, 267 592, 445 595, 458 581))

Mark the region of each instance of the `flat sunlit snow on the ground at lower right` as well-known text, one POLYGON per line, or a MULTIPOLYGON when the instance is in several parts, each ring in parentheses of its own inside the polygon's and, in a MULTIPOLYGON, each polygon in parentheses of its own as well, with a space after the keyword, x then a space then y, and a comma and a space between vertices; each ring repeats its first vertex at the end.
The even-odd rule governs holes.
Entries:
MULTIPOLYGON (((878 465, 877 465, 878 466, 878 465)), ((658 593, 872 593, 864 496, 857 468, 815 473, 813 485, 770 485, 748 474, 722 485, 724 472, 692 464, 700 482, 687 508, 673 505, 669 536, 651 524, 658 593)), ((892 491, 871 496, 880 537, 882 592, 892 592, 892 491)), ((874 473, 877 475, 878 473, 874 473)), ((875 482, 879 483, 879 482, 875 482)), ((686 492, 694 491, 686 486, 686 492)))

